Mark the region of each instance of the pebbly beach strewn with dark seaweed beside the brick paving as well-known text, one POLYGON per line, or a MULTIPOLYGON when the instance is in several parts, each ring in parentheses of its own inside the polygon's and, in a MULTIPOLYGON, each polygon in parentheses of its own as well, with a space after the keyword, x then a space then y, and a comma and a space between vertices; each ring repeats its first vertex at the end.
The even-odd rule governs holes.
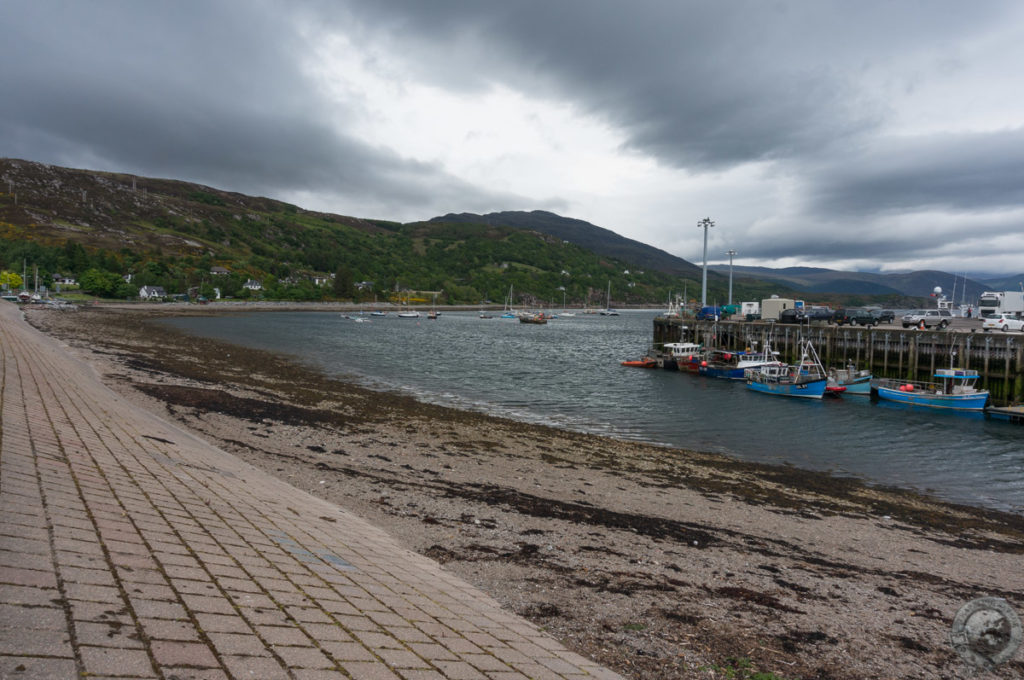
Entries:
MULTIPOLYGON (((229 312, 27 315, 119 393, 627 677, 968 677, 957 609, 1024 612, 1020 515, 427 405, 154 323, 168 313, 229 312)), ((1019 651, 990 677, 1022 675, 1019 651)))

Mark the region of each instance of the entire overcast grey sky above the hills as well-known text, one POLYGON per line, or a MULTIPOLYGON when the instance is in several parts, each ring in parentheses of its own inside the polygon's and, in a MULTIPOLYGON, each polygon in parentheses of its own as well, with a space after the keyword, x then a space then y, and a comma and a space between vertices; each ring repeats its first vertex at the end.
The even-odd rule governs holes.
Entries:
POLYGON ((1024 271, 1016 0, 3 0, 0 156, 699 263, 1024 271))

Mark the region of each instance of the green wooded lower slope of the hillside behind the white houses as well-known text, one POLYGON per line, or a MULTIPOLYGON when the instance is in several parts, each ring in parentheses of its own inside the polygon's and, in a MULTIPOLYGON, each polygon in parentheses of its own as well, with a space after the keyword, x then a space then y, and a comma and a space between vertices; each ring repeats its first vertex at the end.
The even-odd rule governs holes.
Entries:
MULTIPOLYGON (((203 203, 219 208, 215 201, 203 203)), ((49 284, 51 274, 73 277, 83 292, 120 299, 136 297, 142 286, 207 298, 219 291, 221 297, 233 298, 356 301, 385 300, 395 291, 414 289, 440 291, 440 303, 476 304, 503 300, 511 286, 517 302, 561 305, 564 294, 570 304, 603 305, 609 283, 616 304, 665 302, 684 286, 691 293, 698 290, 696 282, 637 270, 513 227, 381 222, 375 223, 379 228, 366 229, 297 210, 199 220, 168 215, 154 226, 200 240, 205 254, 0 240, 0 267, 13 271, 27 263, 38 267, 41 283, 49 284), (215 266, 228 272, 212 273, 215 266), (333 274, 333 281, 316 285, 314 273, 333 274), (245 288, 250 279, 259 281, 262 290, 245 288), (360 282, 372 285, 357 286, 360 282)))

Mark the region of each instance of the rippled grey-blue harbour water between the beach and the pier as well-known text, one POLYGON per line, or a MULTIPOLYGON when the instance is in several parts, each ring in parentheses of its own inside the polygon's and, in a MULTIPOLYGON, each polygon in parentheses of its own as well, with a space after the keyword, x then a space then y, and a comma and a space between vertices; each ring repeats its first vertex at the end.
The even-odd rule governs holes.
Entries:
POLYGON ((475 312, 437 321, 391 312, 362 324, 336 312, 258 312, 167 323, 427 401, 1024 512, 1021 426, 866 397, 777 397, 741 382, 621 367, 649 346, 654 315, 532 326, 475 312))

